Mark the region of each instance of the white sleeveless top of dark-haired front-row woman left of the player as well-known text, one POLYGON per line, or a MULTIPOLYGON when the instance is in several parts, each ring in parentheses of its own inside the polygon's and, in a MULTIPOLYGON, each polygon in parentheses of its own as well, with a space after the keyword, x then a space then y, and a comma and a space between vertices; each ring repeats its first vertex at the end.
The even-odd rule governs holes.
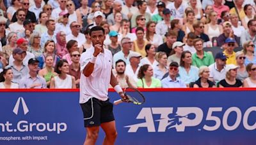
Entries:
POLYGON ((55 88, 72 88, 72 77, 67 74, 65 79, 61 79, 59 76, 54 76, 55 88))

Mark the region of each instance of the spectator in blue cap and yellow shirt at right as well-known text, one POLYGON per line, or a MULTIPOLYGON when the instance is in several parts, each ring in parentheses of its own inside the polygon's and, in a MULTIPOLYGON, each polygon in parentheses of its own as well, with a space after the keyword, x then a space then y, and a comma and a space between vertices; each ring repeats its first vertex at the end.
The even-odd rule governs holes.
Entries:
POLYGON ((227 38, 223 45, 224 54, 227 56, 227 64, 236 64, 236 52, 234 52, 236 46, 236 40, 233 38, 227 38))

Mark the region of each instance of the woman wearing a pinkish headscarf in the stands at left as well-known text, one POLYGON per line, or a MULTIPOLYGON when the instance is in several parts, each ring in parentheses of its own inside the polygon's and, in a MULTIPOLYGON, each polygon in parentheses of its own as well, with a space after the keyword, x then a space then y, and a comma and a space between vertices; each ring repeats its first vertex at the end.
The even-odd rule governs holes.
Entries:
POLYGON ((60 57, 60 59, 62 59, 62 57, 64 55, 66 55, 68 53, 68 50, 66 48, 66 34, 63 31, 60 31, 56 34, 56 54, 58 55, 58 57, 60 57))

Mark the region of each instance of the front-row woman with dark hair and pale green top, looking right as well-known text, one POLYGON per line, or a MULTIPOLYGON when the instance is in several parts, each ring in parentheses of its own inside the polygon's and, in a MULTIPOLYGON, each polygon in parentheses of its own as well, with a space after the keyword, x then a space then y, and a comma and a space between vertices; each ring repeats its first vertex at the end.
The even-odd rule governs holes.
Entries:
POLYGON ((140 67, 138 72, 138 88, 161 88, 161 81, 153 77, 153 67, 145 64, 140 67))

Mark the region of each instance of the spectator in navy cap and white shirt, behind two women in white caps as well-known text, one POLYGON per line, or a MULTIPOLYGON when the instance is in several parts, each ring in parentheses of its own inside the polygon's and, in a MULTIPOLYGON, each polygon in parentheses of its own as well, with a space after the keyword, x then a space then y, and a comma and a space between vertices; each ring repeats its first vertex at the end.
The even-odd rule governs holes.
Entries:
POLYGON ((223 52, 219 52, 216 54, 215 63, 209 66, 210 76, 209 80, 214 83, 218 83, 221 79, 225 78, 227 56, 223 52))

